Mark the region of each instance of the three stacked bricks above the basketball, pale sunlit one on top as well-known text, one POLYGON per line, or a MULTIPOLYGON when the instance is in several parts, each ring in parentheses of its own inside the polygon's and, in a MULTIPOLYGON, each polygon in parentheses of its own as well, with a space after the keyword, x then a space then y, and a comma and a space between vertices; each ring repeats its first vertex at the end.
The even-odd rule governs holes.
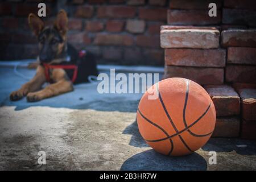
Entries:
POLYGON ((199 84, 223 84, 226 51, 214 27, 162 26, 165 77, 189 77, 199 84))

